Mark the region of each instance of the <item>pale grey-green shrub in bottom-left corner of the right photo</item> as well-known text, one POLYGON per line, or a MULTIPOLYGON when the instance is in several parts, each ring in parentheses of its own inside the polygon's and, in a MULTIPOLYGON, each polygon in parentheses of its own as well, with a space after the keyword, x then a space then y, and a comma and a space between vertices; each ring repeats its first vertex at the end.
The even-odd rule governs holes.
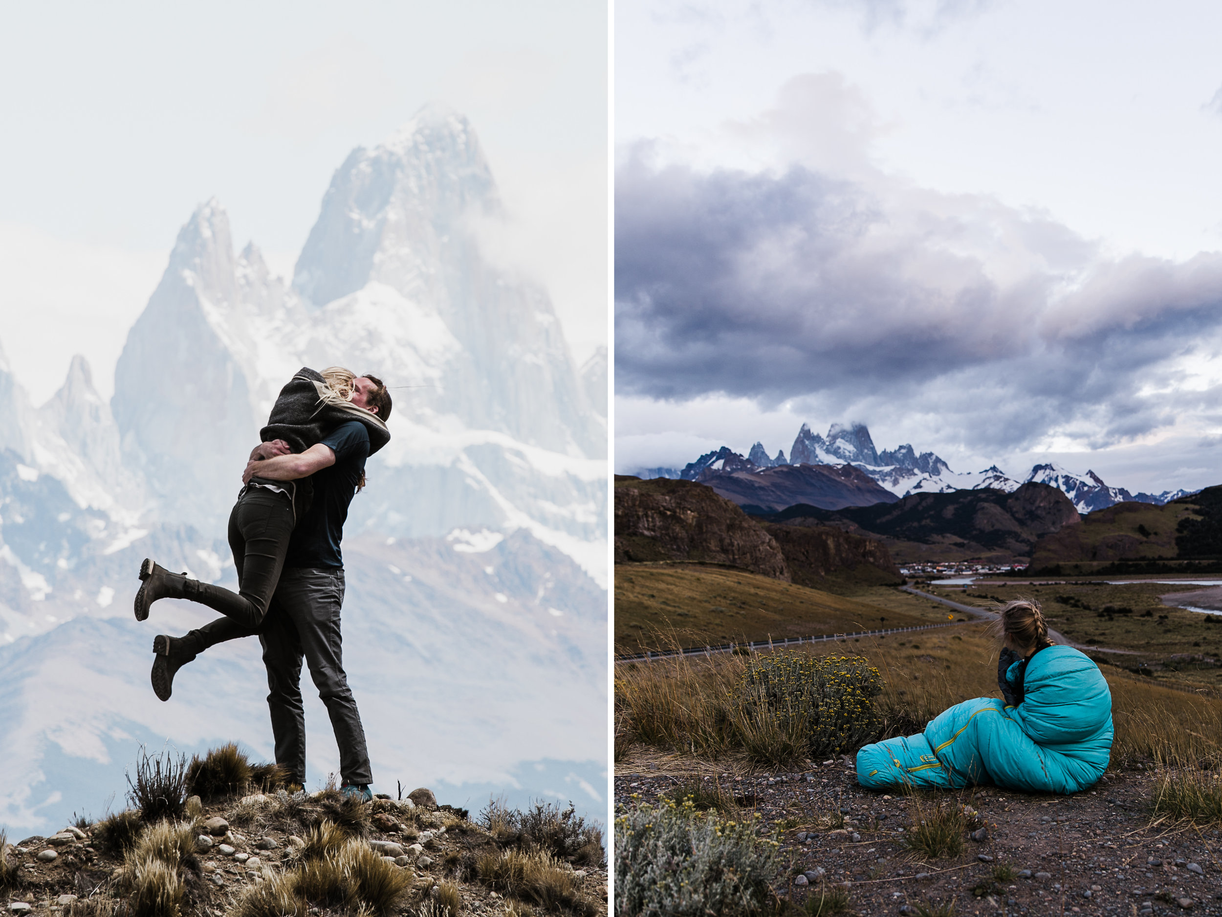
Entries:
POLYGON ((664 801, 616 819, 616 912, 644 917, 769 913, 777 872, 775 838, 754 819, 727 820, 664 801))

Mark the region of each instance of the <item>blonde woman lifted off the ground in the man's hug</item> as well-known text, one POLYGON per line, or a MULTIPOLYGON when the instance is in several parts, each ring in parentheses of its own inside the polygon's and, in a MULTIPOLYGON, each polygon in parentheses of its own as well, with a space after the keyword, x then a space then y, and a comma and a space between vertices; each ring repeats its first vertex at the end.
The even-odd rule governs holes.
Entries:
MULTIPOLYGON (((390 410, 390 392, 376 377, 358 377, 343 367, 330 367, 321 373, 303 367, 280 390, 251 460, 288 452, 309 458, 318 452, 319 444, 353 421, 364 427, 373 455, 390 441, 386 429, 390 410)), ((334 454, 330 461, 334 462, 334 454)), ((357 489, 363 485, 364 478, 357 489)), ((187 573, 171 573, 149 558, 141 564, 141 588, 134 603, 137 621, 145 620, 150 605, 163 598, 198 602, 224 615, 185 637, 163 633, 153 641, 152 681, 160 699, 170 699, 175 672, 197 654, 224 641, 259 632, 280 581, 288 538, 312 499, 309 477, 273 481, 254 474, 242 487, 229 522, 229 543, 237 566, 236 593, 187 573)))

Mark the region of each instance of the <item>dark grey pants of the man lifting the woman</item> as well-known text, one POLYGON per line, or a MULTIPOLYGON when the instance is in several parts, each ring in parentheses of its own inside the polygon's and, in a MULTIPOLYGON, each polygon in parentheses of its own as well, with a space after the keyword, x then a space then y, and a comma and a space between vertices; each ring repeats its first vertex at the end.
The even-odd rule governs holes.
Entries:
POLYGON ((371 784, 365 731, 343 672, 340 608, 343 570, 288 567, 280 575, 271 611, 259 633, 268 668, 268 707, 276 741, 276 763, 306 784, 306 713, 302 707, 302 657, 318 696, 326 704, 340 746, 340 776, 346 784, 371 784))

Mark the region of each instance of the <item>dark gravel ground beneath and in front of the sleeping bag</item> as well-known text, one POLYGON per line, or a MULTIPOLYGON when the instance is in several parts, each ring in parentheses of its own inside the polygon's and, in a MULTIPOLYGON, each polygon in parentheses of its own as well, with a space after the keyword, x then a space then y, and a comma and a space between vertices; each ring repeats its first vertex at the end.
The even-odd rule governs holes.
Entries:
MULTIPOLYGON (((904 836, 929 800, 863 790, 848 758, 800 773, 698 774, 679 759, 617 767, 616 800, 671 795, 684 783, 720 785, 782 841, 781 897, 802 906, 825 886, 848 890, 848 911, 916 915, 954 902, 957 915, 1222 913, 1222 835, 1150 814, 1154 773, 1112 770, 1073 796, 978 787, 954 796, 984 828, 963 853, 930 860, 904 836), (841 820, 843 817, 843 820, 841 820), (996 875, 1013 878, 998 882, 996 875), (995 875, 996 874, 996 875, 995 875)), ((723 765, 725 767, 725 765, 723 765)))

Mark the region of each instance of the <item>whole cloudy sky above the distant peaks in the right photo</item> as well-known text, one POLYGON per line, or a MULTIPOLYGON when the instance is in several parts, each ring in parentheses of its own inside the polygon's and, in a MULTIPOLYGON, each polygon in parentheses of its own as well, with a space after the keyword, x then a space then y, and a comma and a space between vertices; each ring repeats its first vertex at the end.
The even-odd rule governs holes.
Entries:
POLYGON ((1220 483, 1220 29, 620 0, 616 468, 860 421, 957 471, 1220 483))

